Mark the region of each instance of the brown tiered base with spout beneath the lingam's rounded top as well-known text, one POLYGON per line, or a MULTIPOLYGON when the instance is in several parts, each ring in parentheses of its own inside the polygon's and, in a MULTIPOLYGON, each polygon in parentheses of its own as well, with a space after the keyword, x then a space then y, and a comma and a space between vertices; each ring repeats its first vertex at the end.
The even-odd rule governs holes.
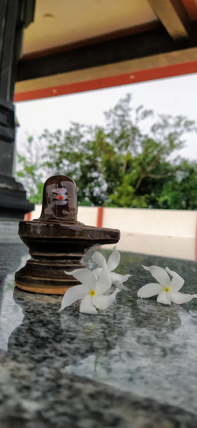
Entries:
POLYGON ((64 294, 72 285, 80 284, 66 275, 74 269, 85 268, 81 260, 91 247, 115 244, 119 231, 82 223, 40 223, 20 221, 20 238, 30 248, 31 259, 15 276, 17 287, 45 294, 64 294))

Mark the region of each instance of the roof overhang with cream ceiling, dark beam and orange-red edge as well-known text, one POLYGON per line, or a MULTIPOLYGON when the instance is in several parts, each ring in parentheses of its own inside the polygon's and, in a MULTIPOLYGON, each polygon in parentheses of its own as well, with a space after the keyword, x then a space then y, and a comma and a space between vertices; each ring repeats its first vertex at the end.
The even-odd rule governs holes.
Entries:
MULTIPOLYGON (((73 8, 76 2, 77 0, 73 0, 73 8)), ((59 34, 59 38, 56 36, 56 42, 51 36, 47 39, 48 27, 45 29, 43 27, 41 34, 37 34, 41 28, 40 16, 44 16, 43 3, 46 10, 47 5, 51 3, 55 13, 55 10, 60 11, 61 7, 64 9, 68 2, 37 0, 35 21, 25 30, 27 32, 24 40, 25 54, 19 63, 15 101, 53 97, 197 72, 196 0, 140 2, 122 0, 121 4, 124 6, 123 10, 121 9, 122 15, 119 17, 118 9, 113 10, 112 23, 109 3, 114 6, 119 2, 84 0, 82 3, 88 10, 88 6, 92 5, 91 2, 102 5, 103 10, 100 11, 98 19, 92 13, 86 17, 86 25, 82 26, 76 10, 75 14, 74 12, 73 15, 70 14, 70 25, 78 28, 78 37, 87 35, 91 37, 77 41, 65 34, 64 37, 67 37, 69 43, 58 45, 57 41, 62 42, 62 33, 58 33, 57 27, 53 28, 53 31, 59 34), (133 6, 132 10, 128 10, 130 3, 133 6), (105 8, 106 16, 103 23, 102 12, 104 13, 105 8), (135 20, 132 16, 133 10, 135 20), (137 22, 137 26, 127 27, 129 12, 131 22, 137 22), (149 21, 144 22, 145 18, 149 21), (106 23, 110 30, 115 28, 115 31, 103 34, 103 31, 106 31, 106 23), (122 28, 119 28, 121 26, 122 28), (46 49, 41 50, 40 47, 46 49)), ((117 6, 114 7, 116 8, 117 6)))

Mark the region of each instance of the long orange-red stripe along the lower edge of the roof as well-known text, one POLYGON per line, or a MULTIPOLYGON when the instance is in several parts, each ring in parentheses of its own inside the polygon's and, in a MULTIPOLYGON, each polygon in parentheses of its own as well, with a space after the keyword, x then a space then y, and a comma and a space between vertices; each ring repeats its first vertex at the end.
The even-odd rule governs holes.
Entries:
POLYGON ((28 101, 39 98, 57 97, 58 95, 73 94, 77 92, 93 91, 95 89, 109 88, 112 86, 127 85, 131 83, 139 83, 148 80, 163 79, 166 77, 174 77, 183 74, 191 74, 197 72, 197 61, 188 63, 176 64, 157 69, 149 69, 142 71, 132 71, 127 74, 119 74, 118 76, 103 77, 101 79, 89 80, 86 82, 77 82, 69 85, 61 85, 50 88, 37 89, 29 92, 21 92, 15 94, 14 101, 28 101))

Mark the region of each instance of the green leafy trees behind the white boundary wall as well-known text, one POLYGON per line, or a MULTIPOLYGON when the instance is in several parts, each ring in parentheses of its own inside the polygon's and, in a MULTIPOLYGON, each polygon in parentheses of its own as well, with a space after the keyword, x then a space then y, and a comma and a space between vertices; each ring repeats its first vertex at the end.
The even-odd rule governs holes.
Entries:
POLYGON ((104 118, 103 127, 71 122, 28 138, 17 175, 31 202, 41 203, 47 177, 63 174, 76 182, 79 205, 197 209, 197 163, 179 156, 194 121, 133 109, 129 94, 104 118))

